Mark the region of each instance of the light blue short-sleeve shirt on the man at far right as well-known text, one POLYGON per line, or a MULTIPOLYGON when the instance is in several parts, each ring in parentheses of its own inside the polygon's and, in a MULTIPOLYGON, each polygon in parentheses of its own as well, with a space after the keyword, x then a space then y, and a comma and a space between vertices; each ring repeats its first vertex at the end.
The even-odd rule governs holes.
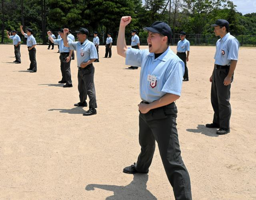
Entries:
POLYGON ((238 60, 238 40, 227 33, 223 38, 220 38, 216 43, 216 52, 214 55, 217 65, 230 65, 231 60, 238 60))

